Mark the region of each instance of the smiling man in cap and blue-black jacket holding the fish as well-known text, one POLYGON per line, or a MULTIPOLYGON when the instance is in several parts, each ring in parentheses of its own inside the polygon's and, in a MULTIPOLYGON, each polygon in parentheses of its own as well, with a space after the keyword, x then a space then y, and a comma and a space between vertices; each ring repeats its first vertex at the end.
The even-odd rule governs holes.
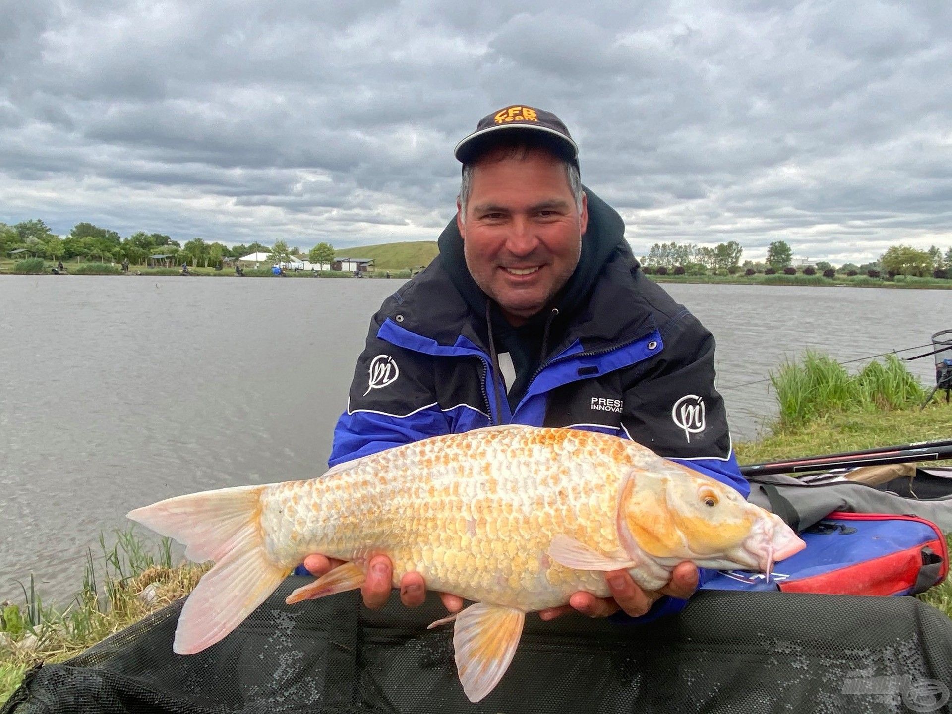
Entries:
MULTIPOLYGON (((482 426, 571 426, 634 439, 745 495, 713 386, 714 340, 645 279, 621 216, 582 187, 562 121, 507 107, 455 155, 464 165, 456 219, 440 255, 371 321, 331 466, 482 426)), ((311 555, 305 565, 320 575, 337 562, 311 555)), ((384 556, 367 565, 364 600, 379 607, 391 565, 384 556)), ((657 592, 622 570, 607 581, 613 597, 578 592, 541 617, 572 608, 656 617, 684 605, 699 573, 678 565, 657 592)), ((400 590, 405 605, 420 605, 426 584, 407 573, 400 590)), ((451 611, 463 605, 442 597, 451 611)))

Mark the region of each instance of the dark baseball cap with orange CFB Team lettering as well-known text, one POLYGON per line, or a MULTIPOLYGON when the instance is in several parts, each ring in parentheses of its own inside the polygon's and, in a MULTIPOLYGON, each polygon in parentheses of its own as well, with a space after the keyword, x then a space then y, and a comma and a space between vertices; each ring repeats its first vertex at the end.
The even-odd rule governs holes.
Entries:
POLYGON ((518 104, 486 114, 479 120, 476 130, 456 145, 453 155, 466 164, 495 140, 520 131, 531 132, 534 138, 543 140, 560 156, 578 166, 579 147, 565 123, 551 111, 518 104))

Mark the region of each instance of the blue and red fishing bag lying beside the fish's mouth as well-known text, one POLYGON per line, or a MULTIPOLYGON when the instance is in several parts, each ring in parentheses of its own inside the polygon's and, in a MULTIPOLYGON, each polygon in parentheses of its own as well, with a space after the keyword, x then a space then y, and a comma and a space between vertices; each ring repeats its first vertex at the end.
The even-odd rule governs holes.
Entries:
POLYGON ((834 511, 801 531, 806 547, 764 573, 723 570, 717 590, 828 595, 912 595, 942 583, 948 550, 939 528, 915 516, 834 511))

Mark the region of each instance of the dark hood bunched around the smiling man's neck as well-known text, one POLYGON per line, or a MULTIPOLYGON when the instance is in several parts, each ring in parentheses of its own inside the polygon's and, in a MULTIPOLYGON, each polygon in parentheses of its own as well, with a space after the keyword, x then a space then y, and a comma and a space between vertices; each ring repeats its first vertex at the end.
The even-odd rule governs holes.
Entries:
MULTIPOLYGON (((590 189, 583 187, 588 197, 588 227, 582 236, 582 254, 565 287, 552 298, 549 305, 529 319, 526 327, 538 327, 545 321, 552 308, 559 309, 559 318, 565 322, 583 304, 591 291, 596 278, 616 251, 630 255, 631 248, 625 241, 625 222, 614 208, 608 206, 590 189)), ((476 285, 466 268, 463 252, 463 236, 456 227, 455 217, 451 220, 438 242, 440 257, 446 272, 466 301, 466 305, 475 315, 486 314, 486 293, 476 285)), ((495 313, 499 315, 498 311, 495 313)), ((502 318, 500 318, 502 319, 502 318)), ((495 320, 493 321, 496 322, 495 320)))

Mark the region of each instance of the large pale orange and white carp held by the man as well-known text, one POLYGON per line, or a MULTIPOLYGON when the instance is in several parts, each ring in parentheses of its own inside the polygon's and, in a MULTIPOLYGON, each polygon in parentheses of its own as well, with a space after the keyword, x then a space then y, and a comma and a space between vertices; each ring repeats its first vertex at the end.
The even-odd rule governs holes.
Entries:
POLYGON ((608 597, 607 571, 657 590, 684 561, 769 574, 804 546, 778 516, 645 446, 520 425, 395 446, 315 479, 177 496, 129 518, 215 563, 182 608, 176 653, 222 640, 311 553, 345 563, 288 604, 358 588, 386 555, 394 586, 413 570, 473 603, 430 625, 453 623, 471 702, 502 679, 527 613, 580 590, 608 597))

